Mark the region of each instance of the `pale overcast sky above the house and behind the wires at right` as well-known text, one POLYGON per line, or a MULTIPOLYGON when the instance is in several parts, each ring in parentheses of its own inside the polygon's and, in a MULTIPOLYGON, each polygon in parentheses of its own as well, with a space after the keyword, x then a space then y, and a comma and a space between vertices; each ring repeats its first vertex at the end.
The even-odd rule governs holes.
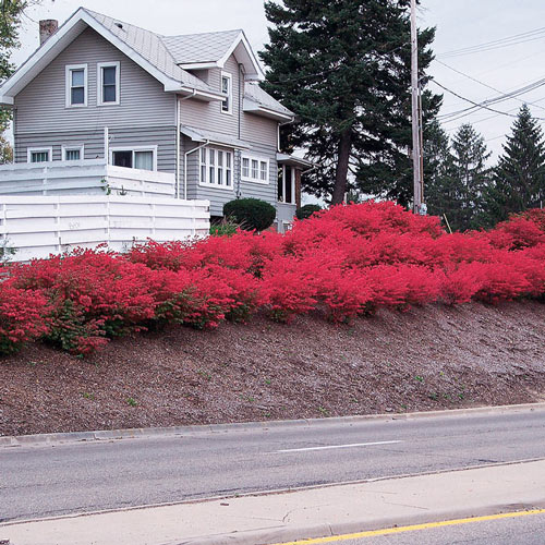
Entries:
MULTIPOLYGON (((41 5, 28 12, 21 34, 22 48, 13 55, 19 65, 38 46, 38 20, 66 20, 80 5, 126 21, 165 35, 244 28, 252 46, 259 50, 267 40, 267 21, 262 0, 43 0, 41 5)), ((420 26, 436 26, 434 62, 429 73, 444 86, 475 102, 511 92, 545 78, 545 0, 422 0, 419 9, 420 26), (531 41, 463 56, 445 56, 460 48, 476 46, 544 27, 531 41), (477 83, 475 80, 479 80, 477 83), (496 88, 493 90, 486 84, 496 88)), ((513 40, 514 41, 514 40, 513 40)), ((521 41, 521 40, 518 40, 521 41)), ((431 84, 434 90, 441 90, 431 84)), ((471 106, 443 92, 441 113, 471 106)), ((526 100, 536 118, 544 118, 545 86, 492 106, 502 112, 517 113, 520 100, 526 100)), ((512 118, 479 110, 456 121, 445 122, 449 134, 463 121, 474 123, 495 155, 501 152, 504 135, 509 132, 512 118)))

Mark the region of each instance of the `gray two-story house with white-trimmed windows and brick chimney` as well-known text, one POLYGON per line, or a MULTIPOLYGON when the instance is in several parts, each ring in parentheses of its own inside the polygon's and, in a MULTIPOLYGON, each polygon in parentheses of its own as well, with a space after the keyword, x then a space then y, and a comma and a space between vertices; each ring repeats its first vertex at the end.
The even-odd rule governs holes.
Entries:
POLYGON ((310 164, 280 153, 293 113, 259 87, 242 31, 161 36, 80 8, 59 28, 40 22, 40 41, 0 87, 15 161, 0 194, 93 193, 100 178, 208 199, 213 217, 233 198, 262 198, 278 229, 289 226, 310 164))

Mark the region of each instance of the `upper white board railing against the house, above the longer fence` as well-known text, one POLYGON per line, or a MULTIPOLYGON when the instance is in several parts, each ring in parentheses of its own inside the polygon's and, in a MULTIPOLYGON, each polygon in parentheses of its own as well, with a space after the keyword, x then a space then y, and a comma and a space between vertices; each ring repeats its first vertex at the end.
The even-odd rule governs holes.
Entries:
POLYGON ((104 159, 0 166, 0 195, 174 196, 170 172, 129 169, 104 159))

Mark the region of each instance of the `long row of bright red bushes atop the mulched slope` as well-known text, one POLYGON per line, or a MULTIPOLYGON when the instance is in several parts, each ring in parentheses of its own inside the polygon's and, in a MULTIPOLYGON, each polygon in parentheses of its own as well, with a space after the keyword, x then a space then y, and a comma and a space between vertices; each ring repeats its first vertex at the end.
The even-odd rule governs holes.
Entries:
POLYGON ((86 354, 143 329, 214 328, 262 311, 284 323, 315 311, 346 322, 435 301, 543 299, 545 214, 447 234, 438 218, 368 202, 314 214, 284 235, 78 250, 5 266, 3 277, 1 353, 43 338, 86 354))

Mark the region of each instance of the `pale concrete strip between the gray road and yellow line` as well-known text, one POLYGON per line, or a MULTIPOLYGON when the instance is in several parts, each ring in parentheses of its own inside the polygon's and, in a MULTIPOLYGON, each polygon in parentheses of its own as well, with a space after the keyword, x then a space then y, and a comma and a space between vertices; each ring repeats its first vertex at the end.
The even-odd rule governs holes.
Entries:
POLYGON ((267 544, 545 506, 545 460, 0 524, 16 545, 267 544))

